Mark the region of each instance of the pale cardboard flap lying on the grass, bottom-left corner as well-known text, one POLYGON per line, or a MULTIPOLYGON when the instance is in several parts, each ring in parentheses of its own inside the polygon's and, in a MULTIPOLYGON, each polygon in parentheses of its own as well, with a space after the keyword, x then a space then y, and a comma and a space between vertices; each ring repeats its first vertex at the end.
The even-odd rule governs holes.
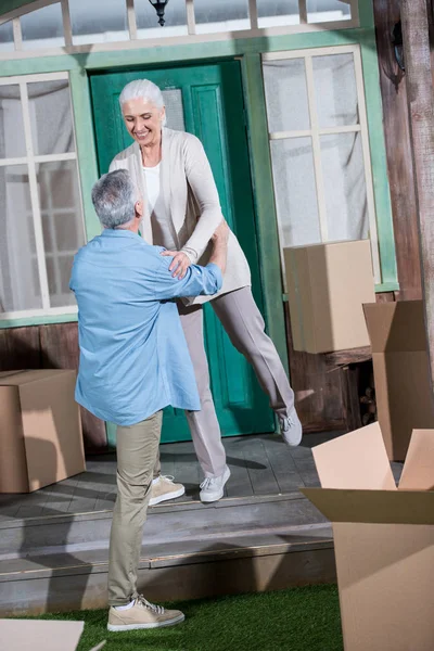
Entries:
MULTIPOLYGON (((0 620, 0 649, 8 651, 76 651, 85 622, 0 620)), ((90 649, 100 651, 105 640, 90 649)))

